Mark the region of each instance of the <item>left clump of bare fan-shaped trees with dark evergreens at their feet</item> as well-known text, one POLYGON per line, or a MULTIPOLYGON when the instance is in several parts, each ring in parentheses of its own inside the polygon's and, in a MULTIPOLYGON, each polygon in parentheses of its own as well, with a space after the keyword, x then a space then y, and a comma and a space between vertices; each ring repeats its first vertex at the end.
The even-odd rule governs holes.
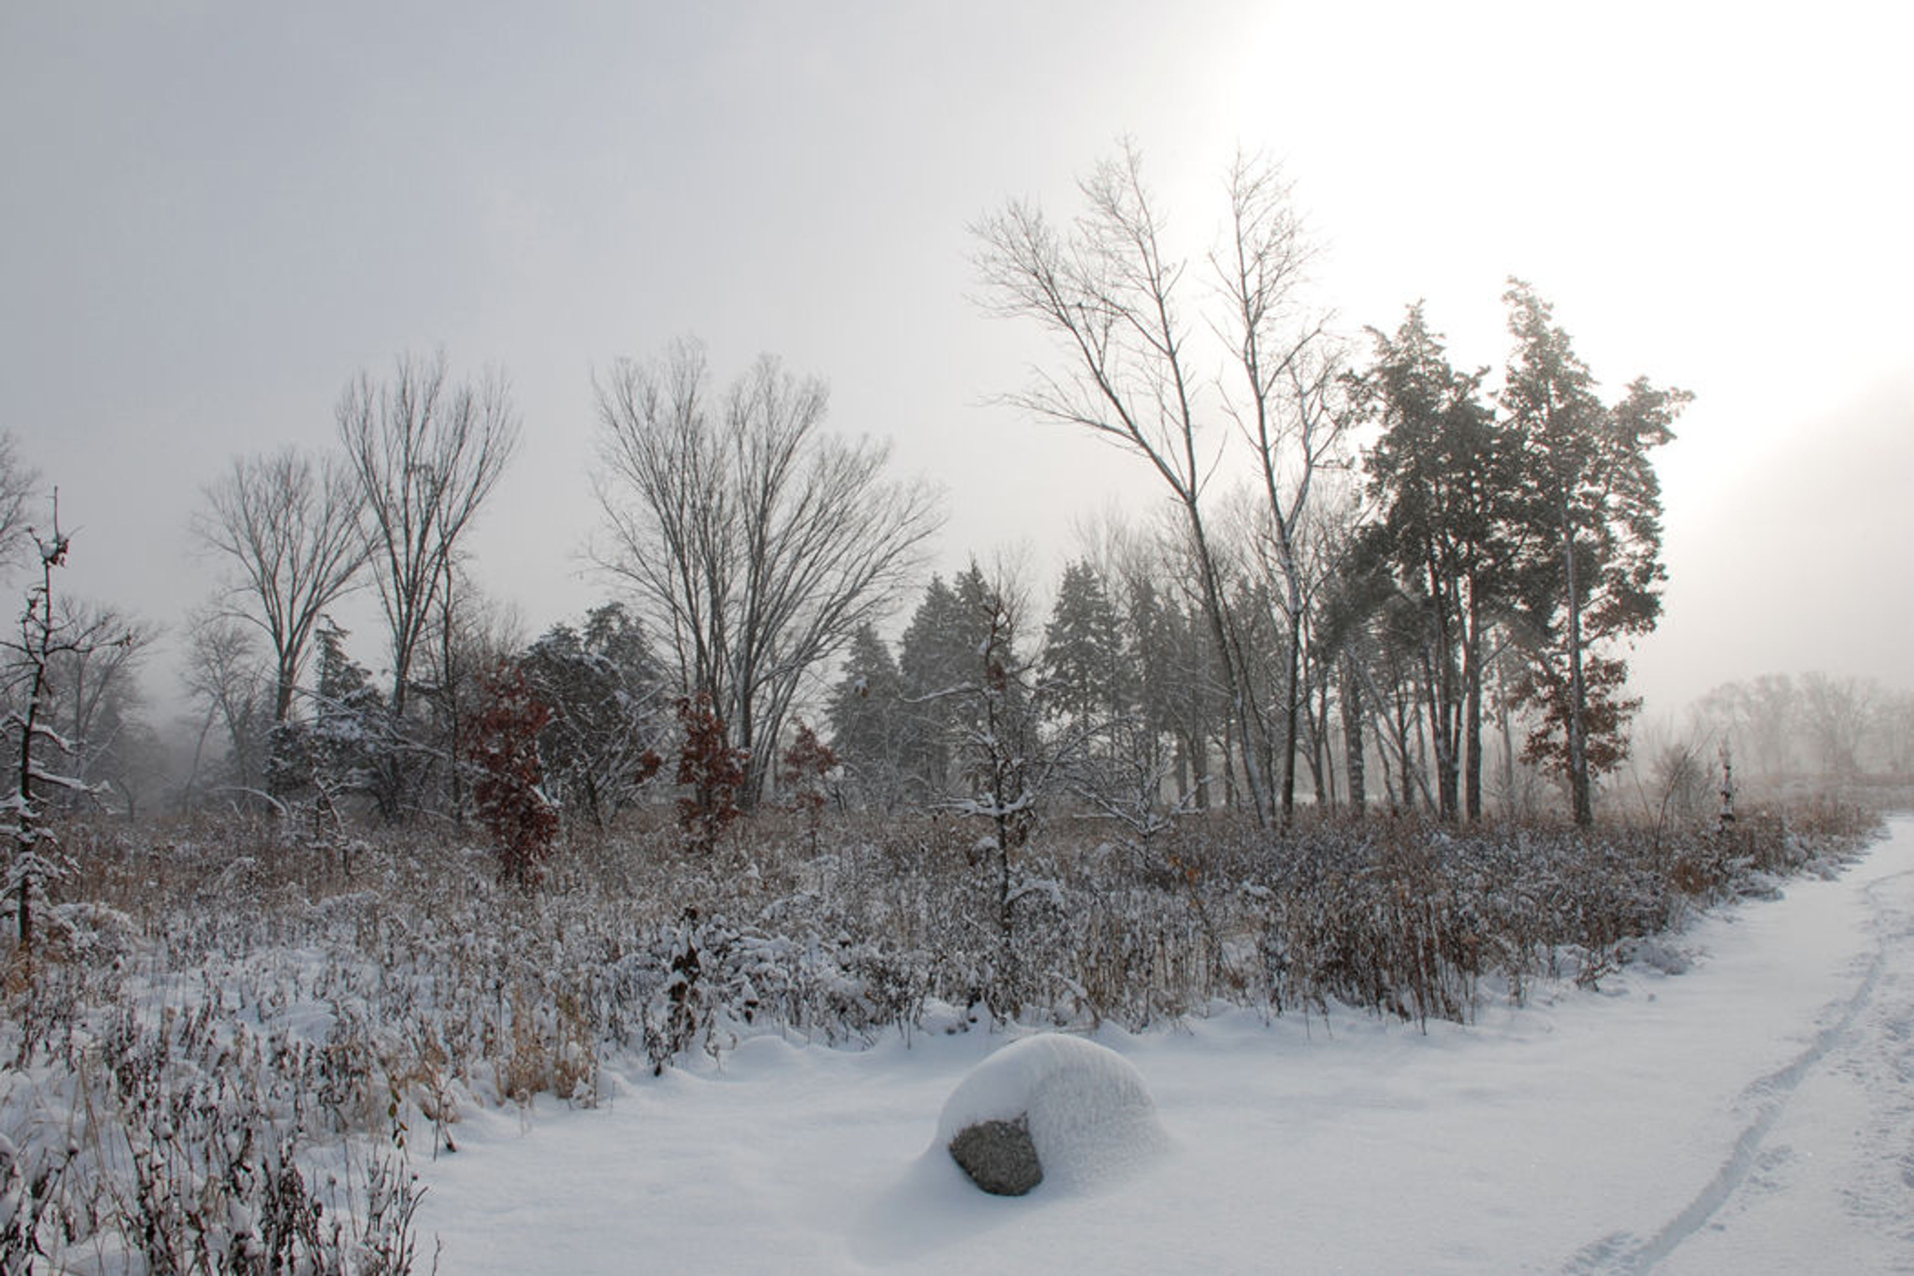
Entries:
POLYGON ((400 360, 348 386, 339 451, 241 457, 209 484, 197 528, 228 578, 195 620, 191 670, 226 733, 222 790, 461 819, 473 731, 523 683, 544 706, 530 782, 572 813, 628 805, 693 714, 722 723, 735 800, 756 803, 804 679, 915 570, 934 494, 888 478, 884 448, 825 434, 823 383, 771 358, 718 386, 679 342, 595 390, 597 566, 622 599, 530 645, 496 629, 463 570, 519 436, 500 379, 452 385, 442 358, 400 360), (360 585, 385 620, 377 683, 329 622, 360 585))

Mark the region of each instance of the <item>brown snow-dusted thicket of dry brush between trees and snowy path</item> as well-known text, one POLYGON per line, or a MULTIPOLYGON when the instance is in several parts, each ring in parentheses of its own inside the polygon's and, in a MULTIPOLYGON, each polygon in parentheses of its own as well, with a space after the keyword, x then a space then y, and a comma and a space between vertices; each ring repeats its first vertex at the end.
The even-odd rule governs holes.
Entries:
POLYGON ((1053 825, 1005 890, 961 821, 760 817, 699 853, 662 823, 574 840, 526 891, 477 836, 82 825, 4 989, 0 1272, 406 1272, 408 1155, 456 1148, 461 1110, 591 1104, 607 1066, 750 1033, 1468 1020, 1874 826, 1053 825))

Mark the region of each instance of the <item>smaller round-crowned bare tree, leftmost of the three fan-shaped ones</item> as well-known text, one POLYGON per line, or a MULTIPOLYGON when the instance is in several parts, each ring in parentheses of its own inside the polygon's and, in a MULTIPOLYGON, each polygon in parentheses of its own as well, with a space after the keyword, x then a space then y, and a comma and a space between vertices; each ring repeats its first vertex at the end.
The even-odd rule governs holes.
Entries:
POLYGON ((226 614, 272 647, 272 721, 283 725, 320 614, 366 564, 364 490, 346 465, 287 448, 235 457, 205 499, 193 530, 230 561, 226 614))

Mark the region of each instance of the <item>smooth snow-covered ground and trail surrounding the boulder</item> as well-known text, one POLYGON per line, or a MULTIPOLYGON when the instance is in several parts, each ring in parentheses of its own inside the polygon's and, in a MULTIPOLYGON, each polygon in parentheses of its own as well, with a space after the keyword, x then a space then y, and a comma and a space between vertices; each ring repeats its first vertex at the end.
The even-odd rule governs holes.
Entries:
POLYGON ((1673 947, 1426 1035, 1099 1033, 1171 1146, 1091 1184, 988 1198, 932 1146, 1001 1033, 756 1039, 595 1111, 467 1113, 417 1222, 459 1274, 1914 1272, 1914 821, 1673 947))

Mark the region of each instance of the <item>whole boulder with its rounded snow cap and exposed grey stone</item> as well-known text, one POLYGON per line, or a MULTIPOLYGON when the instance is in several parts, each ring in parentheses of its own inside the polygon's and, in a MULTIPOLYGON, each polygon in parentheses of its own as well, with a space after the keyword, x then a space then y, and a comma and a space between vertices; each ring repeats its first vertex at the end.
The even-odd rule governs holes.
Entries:
POLYGON ((1168 1136, 1129 1060, 1081 1037, 1043 1033, 970 1069, 944 1102, 936 1142, 986 1192, 1022 1196, 1045 1178, 1062 1186, 1108 1178, 1168 1136), (1016 1133, 1013 1144, 999 1138, 1005 1131, 1016 1133), (1026 1134, 1034 1167, 1014 1146, 1026 1134))

